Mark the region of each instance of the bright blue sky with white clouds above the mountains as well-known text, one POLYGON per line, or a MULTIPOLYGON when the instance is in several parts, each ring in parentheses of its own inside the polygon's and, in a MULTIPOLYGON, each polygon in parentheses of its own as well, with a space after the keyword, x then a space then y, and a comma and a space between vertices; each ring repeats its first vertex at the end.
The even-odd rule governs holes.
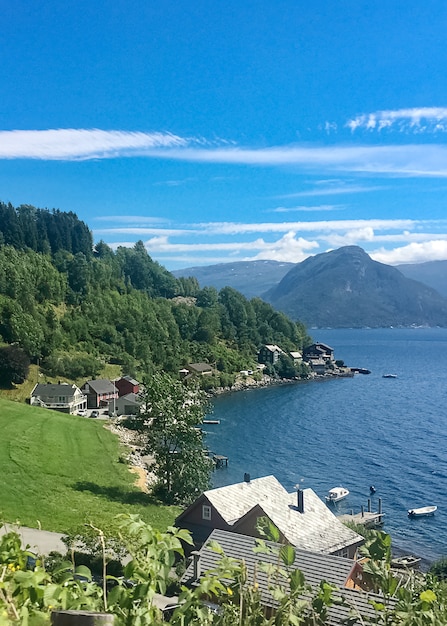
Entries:
POLYGON ((447 259, 443 0, 0 0, 0 200, 168 269, 447 259))

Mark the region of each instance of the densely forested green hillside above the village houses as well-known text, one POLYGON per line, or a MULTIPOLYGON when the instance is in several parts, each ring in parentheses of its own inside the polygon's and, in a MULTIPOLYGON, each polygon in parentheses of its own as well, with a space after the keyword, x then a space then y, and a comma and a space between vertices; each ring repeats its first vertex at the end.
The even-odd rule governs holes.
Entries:
POLYGON ((176 279, 143 242, 93 245, 77 216, 0 203, 0 341, 17 343, 48 375, 93 377, 106 363, 134 375, 188 362, 216 365, 220 381, 255 363, 262 343, 309 342, 258 298, 176 279))

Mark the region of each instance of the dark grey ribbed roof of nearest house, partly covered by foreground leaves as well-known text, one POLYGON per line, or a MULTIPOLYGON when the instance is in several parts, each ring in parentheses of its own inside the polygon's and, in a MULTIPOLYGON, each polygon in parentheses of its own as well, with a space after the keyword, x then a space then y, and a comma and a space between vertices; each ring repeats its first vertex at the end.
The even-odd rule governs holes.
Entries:
MULTIPOLYGON (((217 552, 208 547, 211 540, 217 541, 223 549, 225 556, 244 561, 247 571, 248 584, 253 583, 256 580, 261 592, 262 603, 265 606, 274 607, 277 603, 269 591, 271 580, 269 579, 268 574, 263 571, 263 568, 259 567, 259 564, 270 563, 277 565, 277 555, 281 544, 266 541, 266 545, 271 548, 272 551, 267 554, 264 552, 255 553, 253 548, 257 545, 256 538, 224 530, 214 530, 206 544, 200 550, 199 572, 202 574, 208 570, 214 570, 221 558, 217 552)), ((306 583, 311 585, 314 589, 319 586, 322 580, 327 581, 331 585, 335 585, 341 590, 341 593, 339 592, 335 594, 336 596, 342 596, 345 601, 355 607, 361 615, 373 617, 375 615, 375 611, 371 604, 369 604, 368 600, 370 598, 374 598, 375 601, 383 602, 383 597, 368 594, 363 591, 347 589, 345 587, 347 580, 354 574, 356 566, 357 564, 355 561, 344 557, 323 555, 311 551, 296 549, 295 561, 292 568, 301 570, 304 574, 306 583)), ((184 584, 194 583, 193 563, 191 563, 183 575, 182 582, 184 584)), ((394 604, 393 600, 391 600, 391 604, 394 604)), ((342 623, 342 620, 348 617, 348 614, 349 607, 333 605, 329 607, 328 618, 325 623, 331 626, 339 626, 339 624, 342 623)), ((358 624, 361 623, 361 620, 359 620, 358 624)))

